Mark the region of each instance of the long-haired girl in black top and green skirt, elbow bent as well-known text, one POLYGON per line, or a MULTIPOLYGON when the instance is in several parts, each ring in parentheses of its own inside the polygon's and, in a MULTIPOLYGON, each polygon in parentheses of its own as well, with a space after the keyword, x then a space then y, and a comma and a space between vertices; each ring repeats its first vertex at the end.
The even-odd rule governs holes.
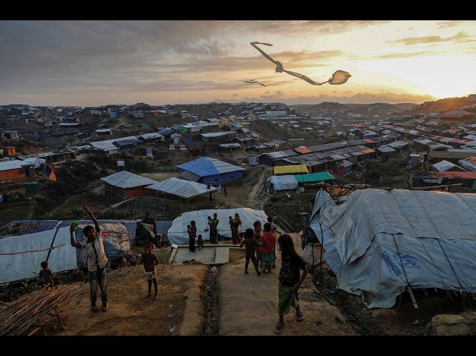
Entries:
MULTIPOLYGON (((266 226, 266 224, 265 224, 266 226)), ((296 308, 296 320, 301 321, 304 315, 299 308, 299 297, 297 291, 308 274, 308 267, 294 249, 293 239, 288 234, 279 236, 278 250, 281 254, 281 270, 279 271, 278 282, 278 313, 279 320, 274 326, 274 332, 281 334, 284 326, 284 315, 289 314, 292 307, 296 308), (302 276, 299 278, 299 270, 302 276)))

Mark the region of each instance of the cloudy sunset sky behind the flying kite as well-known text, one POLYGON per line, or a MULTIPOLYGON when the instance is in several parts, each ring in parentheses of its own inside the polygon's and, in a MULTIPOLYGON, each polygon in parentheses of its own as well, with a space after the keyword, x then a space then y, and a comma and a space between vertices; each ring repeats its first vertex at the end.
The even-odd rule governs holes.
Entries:
POLYGON ((422 103, 476 93, 475 40, 476 21, 0 21, 0 105, 422 103), (252 41, 352 78, 275 73, 252 41))

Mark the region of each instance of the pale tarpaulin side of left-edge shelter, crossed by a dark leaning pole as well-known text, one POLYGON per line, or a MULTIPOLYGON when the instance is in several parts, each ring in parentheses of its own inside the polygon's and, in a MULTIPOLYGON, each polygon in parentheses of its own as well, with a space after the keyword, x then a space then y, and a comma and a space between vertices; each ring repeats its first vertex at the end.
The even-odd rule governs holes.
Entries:
MULTIPOLYGON (((41 270, 41 262, 48 256, 48 250, 17 252, 49 249, 55 232, 56 229, 0 239, 0 253, 16 253, 0 255, 0 283, 36 277, 41 270)), ((66 245, 51 250, 48 258, 48 267, 53 273, 71 270, 77 266, 76 248, 70 244, 69 227, 57 230, 53 246, 62 244, 66 245)))

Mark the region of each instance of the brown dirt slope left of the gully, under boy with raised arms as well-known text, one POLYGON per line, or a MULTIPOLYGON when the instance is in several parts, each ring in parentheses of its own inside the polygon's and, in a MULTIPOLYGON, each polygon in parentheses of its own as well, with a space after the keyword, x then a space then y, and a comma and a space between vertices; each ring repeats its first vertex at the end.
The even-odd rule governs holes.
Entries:
MULTIPOLYGON (((53 335, 200 335, 204 322, 201 285, 208 268, 201 265, 159 265, 159 300, 144 299, 147 282, 142 266, 108 275, 111 309, 90 310, 89 294, 62 312, 67 330, 53 335)), ((89 289, 89 283, 84 285, 89 289)), ((153 291, 154 291, 154 287, 153 291)), ((100 306, 98 291, 98 305, 100 306)))

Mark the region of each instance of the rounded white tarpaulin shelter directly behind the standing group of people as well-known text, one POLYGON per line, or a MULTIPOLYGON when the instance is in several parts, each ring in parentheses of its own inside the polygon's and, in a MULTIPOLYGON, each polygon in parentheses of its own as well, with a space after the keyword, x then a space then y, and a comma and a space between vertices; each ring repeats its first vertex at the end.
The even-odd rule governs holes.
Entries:
POLYGON ((167 236, 170 244, 186 245, 188 244, 187 225, 194 220, 197 225, 197 236, 202 234, 203 240, 209 239, 208 219, 213 218, 214 213, 218 214, 218 233, 227 238, 231 238, 230 225, 228 224, 228 217, 234 217, 235 213, 240 214, 242 226, 238 228, 239 232, 245 231, 247 228, 253 228, 253 223, 259 220, 264 224, 267 216, 264 211, 254 210, 250 208, 236 208, 236 209, 209 209, 184 212, 181 216, 172 221, 172 226, 168 230, 167 236))

